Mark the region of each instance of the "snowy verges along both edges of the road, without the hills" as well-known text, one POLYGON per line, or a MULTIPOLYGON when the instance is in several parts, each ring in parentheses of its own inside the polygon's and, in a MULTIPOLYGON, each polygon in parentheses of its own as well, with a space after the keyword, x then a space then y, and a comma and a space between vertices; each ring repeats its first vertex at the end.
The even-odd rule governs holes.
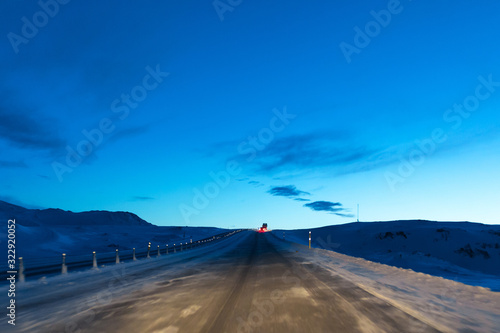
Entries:
MULTIPOLYGON (((16 331, 37 331, 50 324, 54 318, 67 318, 66 331, 77 331, 78 327, 73 326, 76 323, 85 322, 86 319, 92 321, 104 315, 99 312, 103 306, 126 306, 123 304, 127 299, 126 295, 136 290, 147 295, 148 290, 154 291, 158 284, 183 279, 187 272, 195 272, 197 265, 218 260, 223 253, 238 249, 246 234, 242 232, 221 242, 178 252, 176 255, 109 265, 97 271, 87 270, 18 284, 17 298, 23 300, 22 303, 29 305, 29 308, 23 309, 22 304, 20 305, 19 313, 22 317, 19 318, 16 331), (52 302, 51 299, 57 299, 57 302, 52 302), (37 306, 46 302, 51 305, 37 306)), ((280 252, 288 253, 291 260, 303 264, 314 263, 329 271, 332 276, 347 279, 442 332, 498 332, 500 327, 498 292, 334 251, 314 248, 309 250, 307 246, 283 241, 278 237, 269 239, 280 252)), ((304 290, 297 289, 294 292, 302 295, 304 290)), ((0 293, 5 295, 6 288, 0 288, 0 293)), ((195 303, 187 306, 183 313, 189 316, 199 310, 199 304, 195 303)), ((148 312, 144 312, 144 315, 147 314, 148 312)), ((173 331, 175 329, 168 328, 173 331)), ((419 328, 412 329, 418 331, 419 328)))

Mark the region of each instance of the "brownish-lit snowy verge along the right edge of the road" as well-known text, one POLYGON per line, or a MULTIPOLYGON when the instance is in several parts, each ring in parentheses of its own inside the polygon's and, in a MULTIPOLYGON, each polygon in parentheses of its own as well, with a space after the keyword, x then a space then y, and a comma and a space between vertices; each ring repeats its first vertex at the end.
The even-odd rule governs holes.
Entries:
POLYGON ((292 256, 314 262, 443 332, 498 332, 500 293, 270 237, 292 256), (298 251, 298 252, 296 252, 298 251))

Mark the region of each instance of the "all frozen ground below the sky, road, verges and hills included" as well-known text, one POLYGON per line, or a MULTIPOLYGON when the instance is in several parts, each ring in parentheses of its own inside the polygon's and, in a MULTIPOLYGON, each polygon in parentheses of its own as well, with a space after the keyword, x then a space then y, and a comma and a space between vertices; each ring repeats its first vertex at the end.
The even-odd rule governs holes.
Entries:
MULTIPOLYGON (((0 218, 11 216, 25 257, 154 249, 223 231, 0 202, 0 218)), ((169 256, 28 279, 17 285, 18 325, 4 321, 0 331, 498 332, 499 226, 393 221, 311 231, 311 250, 309 230, 246 231, 169 256), (284 302, 269 303, 277 294, 284 302)), ((7 304, 6 285, 0 293, 7 304)))

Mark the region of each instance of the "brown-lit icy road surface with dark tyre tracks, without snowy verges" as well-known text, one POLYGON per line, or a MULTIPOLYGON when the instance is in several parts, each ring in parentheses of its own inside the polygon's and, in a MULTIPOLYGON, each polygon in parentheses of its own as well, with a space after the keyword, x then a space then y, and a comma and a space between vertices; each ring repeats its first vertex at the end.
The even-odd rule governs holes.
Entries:
MULTIPOLYGON (((19 311, 53 309, 40 332, 438 332, 341 276, 282 249, 270 234, 242 232, 239 244, 169 273, 158 265, 130 292, 74 315, 53 295, 19 311), (163 275, 158 275, 164 270, 163 275), (154 282, 144 283, 156 272, 154 282), (36 303, 36 304, 35 304, 36 303)), ((284 247, 283 247, 284 248, 284 247)), ((307 251, 304 249, 303 251, 307 251)), ((193 252, 194 253, 194 252, 193 252)), ((200 258, 200 255, 193 255, 200 258)), ((133 277, 127 277, 128 281, 133 277)), ((95 288, 99 288, 94 286, 95 288)), ((91 288, 86 288, 90 292, 91 288)), ((68 300, 65 300, 68 302, 68 300)), ((77 301, 77 300, 76 300, 77 301)), ((73 301, 75 302, 75 301, 73 301)), ((29 318, 30 316, 27 316, 29 318)), ((19 316, 19 321, 23 316, 19 316)))

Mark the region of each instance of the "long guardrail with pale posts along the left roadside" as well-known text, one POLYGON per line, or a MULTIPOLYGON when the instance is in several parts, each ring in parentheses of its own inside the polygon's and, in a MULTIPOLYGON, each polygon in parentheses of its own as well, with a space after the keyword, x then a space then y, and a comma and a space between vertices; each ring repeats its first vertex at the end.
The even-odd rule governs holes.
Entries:
MULTIPOLYGON (((49 276, 56 274, 67 274, 68 271, 81 271, 86 269, 99 269, 107 264, 119 264, 125 261, 134 261, 139 259, 151 259, 164 255, 173 255, 195 249, 204 245, 213 244, 226 237, 233 236, 242 230, 235 230, 217 234, 211 237, 198 239, 189 242, 170 243, 163 246, 159 244, 154 248, 151 242, 142 250, 133 248, 132 250, 119 250, 114 252, 96 253, 93 251, 88 255, 71 255, 63 253, 61 257, 39 257, 39 258, 18 258, 18 281, 24 282, 26 278, 37 276, 49 276)), ((5 279, 7 275, 0 275, 0 279, 5 279)))

